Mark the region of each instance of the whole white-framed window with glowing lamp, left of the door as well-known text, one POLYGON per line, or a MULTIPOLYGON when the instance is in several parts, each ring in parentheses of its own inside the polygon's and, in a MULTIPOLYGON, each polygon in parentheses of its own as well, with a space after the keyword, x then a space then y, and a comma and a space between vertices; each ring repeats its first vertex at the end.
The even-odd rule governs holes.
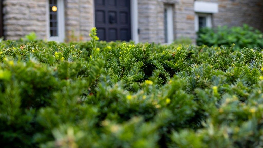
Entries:
POLYGON ((64 0, 48 0, 48 40, 63 42, 65 38, 64 0))

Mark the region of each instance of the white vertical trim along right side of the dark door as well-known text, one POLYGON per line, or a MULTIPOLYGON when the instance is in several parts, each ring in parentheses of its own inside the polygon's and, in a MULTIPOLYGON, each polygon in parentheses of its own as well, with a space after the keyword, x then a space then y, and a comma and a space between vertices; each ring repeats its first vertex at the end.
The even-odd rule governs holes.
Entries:
POLYGON ((135 42, 139 42, 138 34, 138 1, 131 0, 131 39, 135 42))

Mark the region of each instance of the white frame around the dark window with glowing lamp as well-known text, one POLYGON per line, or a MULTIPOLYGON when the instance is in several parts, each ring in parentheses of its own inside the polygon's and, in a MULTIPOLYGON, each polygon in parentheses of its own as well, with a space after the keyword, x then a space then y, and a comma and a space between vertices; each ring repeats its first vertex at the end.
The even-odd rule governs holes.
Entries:
POLYGON ((48 41, 64 42, 65 40, 65 5, 64 0, 57 0, 58 7, 58 36, 50 36, 50 23, 49 23, 49 0, 47 0, 47 39, 48 41))

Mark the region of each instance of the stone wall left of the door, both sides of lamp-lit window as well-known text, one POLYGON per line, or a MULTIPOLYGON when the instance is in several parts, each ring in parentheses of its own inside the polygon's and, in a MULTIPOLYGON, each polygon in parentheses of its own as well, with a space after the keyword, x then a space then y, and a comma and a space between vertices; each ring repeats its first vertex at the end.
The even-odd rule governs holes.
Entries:
MULTIPOLYGON (((4 35, 17 40, 30 32, 47 39, 47 0, 4 0, 4 35)), ((66 40, 89 40, 93 0, 65 0, 66 40)))

